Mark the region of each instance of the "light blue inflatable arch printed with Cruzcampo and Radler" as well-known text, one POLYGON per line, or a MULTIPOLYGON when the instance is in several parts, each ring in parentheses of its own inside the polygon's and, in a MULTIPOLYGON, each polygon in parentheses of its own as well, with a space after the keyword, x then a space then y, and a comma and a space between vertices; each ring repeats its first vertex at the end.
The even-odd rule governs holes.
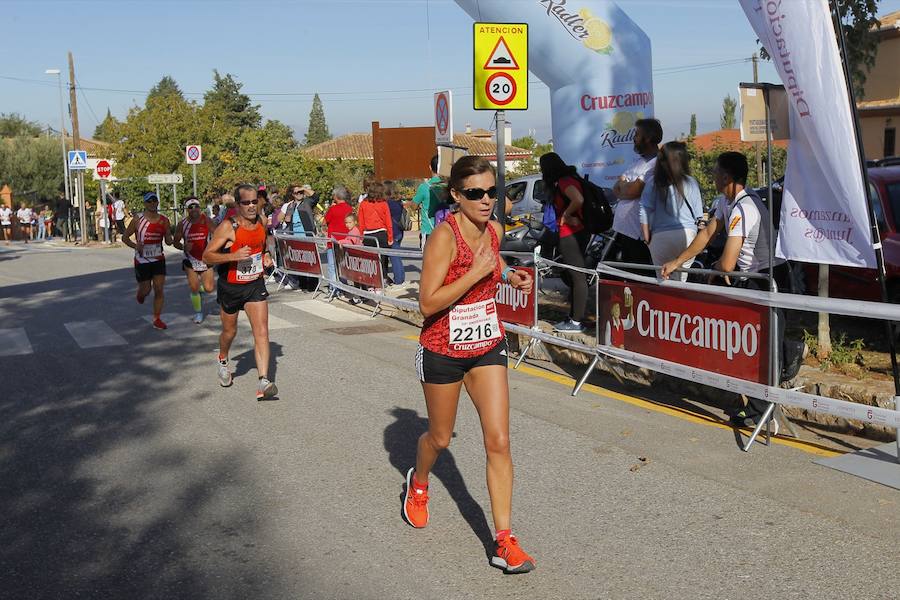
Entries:
POLYGON ((476 21, 528 24, 528 68, 550 88, 554 149, 611 186, 634 162, 634 122, 653 116, 650 38, 612 1, 456 3, 476 21))

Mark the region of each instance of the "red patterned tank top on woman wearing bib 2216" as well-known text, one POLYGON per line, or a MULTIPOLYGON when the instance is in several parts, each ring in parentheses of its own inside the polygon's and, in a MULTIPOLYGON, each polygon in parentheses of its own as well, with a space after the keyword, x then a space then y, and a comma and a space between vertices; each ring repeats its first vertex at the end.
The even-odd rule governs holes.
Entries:
MULTIPOLYGON (((469 245, 463 239, 462 234, 459 231, 456 215, 450 216, 446 222, 449 223, 450 228, 453 230, 453 236, 456 239, 456 257, 453 259, 453 262, 450 263, 450 269, 447 271, 447 276, 444 278, 444 285, 449 285, 469 271, 474 256, 472 250, 469 248, 469 245)), ((419 343, 431 352, 452 358, 471 358, 473 356, 486 354, 503 341, 505 331, 503 330, 503 324, 500 322, 499 317, 496 318, 499 337, 494 337, 497 334, 496 331, 490 331, 489 335, 484 335, 485 332, 481 331, 482 337, 490 337, 492 339, 482 343, 470 344, 470 346, 472 346, 470 348, 461 347, 465 346, 465 344, 452 344, 453 340, 451 340, 451 312, 457 307, 477 305, 478 303, 486 302, 487 307, 485 311, 487 315, 496 315, 497 309, 496 304, 494 304, 494 297, 497 294, 497 285, 500 283, 501 274, 499 260, 500 240, 497 238, 497 232, 494 231, 494 227, 490 224, 488 227, 491 231, 491 250, 493 250, 498 257, 494 272, 476 283, 468 292, 463 294, 462 298, 460 298, 456 304, 425 319, 425 323, 422 325, 422 333, 419 335, 419 343)), ((462 333, 464 334, 465 331, 462 333)), ((459 341, 465 341, 465 336, 460 335, 457 328, 454 329, 454 338, 459 339, 459 341)))

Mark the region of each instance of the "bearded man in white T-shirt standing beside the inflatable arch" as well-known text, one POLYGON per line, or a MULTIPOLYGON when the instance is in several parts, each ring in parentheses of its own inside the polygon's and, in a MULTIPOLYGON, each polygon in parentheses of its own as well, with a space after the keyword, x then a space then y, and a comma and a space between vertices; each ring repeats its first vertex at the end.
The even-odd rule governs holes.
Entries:
POLYGON ((613 219, 616 250, 622 262, 653 263, 641 233, 641 195, 648 177, 656 167, 656 156, 662 142, 662 125, 656 119, 640 119, 634 124, 634 152, 637 158, 613 186, 618 202, 613 219))

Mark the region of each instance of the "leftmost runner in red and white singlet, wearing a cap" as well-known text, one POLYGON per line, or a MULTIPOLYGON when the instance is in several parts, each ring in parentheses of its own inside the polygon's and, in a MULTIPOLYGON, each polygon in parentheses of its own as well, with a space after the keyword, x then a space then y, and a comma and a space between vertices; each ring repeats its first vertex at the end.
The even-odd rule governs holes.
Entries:
POLYGON ((123 241, 127 246, 134 248, 134 276, 138 282, 138 304, 144 303, 152 287, 153 326, 156 329, 166 329, 166 324, 160 318, 165 301, 163 287, 166 284, 166 255, 163 252, 163 243, 172 245, 172 231, 169 219, 159 214, 159 198, 153 192, 144 194, 144 212, 135 215, 128 224, 123 241))

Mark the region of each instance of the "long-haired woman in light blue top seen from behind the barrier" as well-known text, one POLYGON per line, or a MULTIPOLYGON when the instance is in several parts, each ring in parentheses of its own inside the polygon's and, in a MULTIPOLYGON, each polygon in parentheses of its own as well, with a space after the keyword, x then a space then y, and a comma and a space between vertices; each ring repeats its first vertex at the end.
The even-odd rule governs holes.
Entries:
MULTIPOLYGON (((669 142, 660 149, 653 177, 641 195, 641 231, 653 264, 664 265, 690 246, 702 216, 700 185, 691 177, 687 146, 669 142)), ((684 267, 690 265, 691 261, 683 263, 684 267)), ((685 281, 687 273, 675 277, 685 281)))

